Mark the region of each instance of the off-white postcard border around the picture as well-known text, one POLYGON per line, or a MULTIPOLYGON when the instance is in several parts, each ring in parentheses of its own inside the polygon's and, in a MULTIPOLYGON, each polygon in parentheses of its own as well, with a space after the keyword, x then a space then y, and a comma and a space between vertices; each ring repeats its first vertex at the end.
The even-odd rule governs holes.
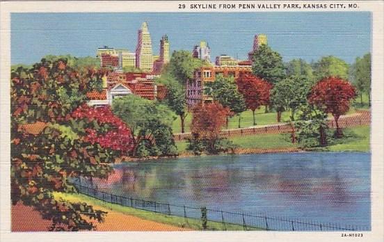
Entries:
MULTIPOLYGON (((245 2, 245 1, 243 1, 245 2)), ((383 1, 274 1, 272 3, 358 3, 357 10, 369 11, 372 28, 372 125, 371 125, 371 232, 363 237, 341 237, 341 232, 10 232, 10 13, 64 12, 257 12, 258 10, 179 10, 179 3, 234 3, 230 1, 24 1, 1 4, 0 72, 0 241, 383 241, 383 1)), ((237 2, 240 3, 240 2, 237 2)), ((247 1, 246 3, 250 3, 247 1)), ((253 1, 256 3, 256 1, 253 1)), ((271 1, 257 1, 271 3, 271 1)), ((262 10, 262 12, 307 10, 262 10)), ((314 11, 314 10, 310 10, 314 11)), ((26 218, 28 219, 28 218, 26 218)))

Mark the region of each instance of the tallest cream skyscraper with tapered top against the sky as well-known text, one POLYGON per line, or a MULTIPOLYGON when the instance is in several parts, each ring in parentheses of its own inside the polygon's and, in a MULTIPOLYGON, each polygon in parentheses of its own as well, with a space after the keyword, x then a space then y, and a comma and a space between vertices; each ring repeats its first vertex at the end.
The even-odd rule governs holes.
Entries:
POLYGON ((147 72, 152 72, 152 65, 153 55, 150 31, 148 31, 147 22, 143 22, 141 29, 138 30, 136 67, 147 72))

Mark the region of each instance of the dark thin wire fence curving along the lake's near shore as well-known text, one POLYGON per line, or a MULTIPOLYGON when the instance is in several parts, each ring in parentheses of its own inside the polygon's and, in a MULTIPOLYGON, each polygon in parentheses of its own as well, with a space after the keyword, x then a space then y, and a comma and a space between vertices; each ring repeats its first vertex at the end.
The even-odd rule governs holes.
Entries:
MULTIPOLYGON (((94 197, 104 202, 120 204, 125 207, 162 213, 167 216, 178 216, 184 219, 184 223, 189 224, 199 220, 202 224, 203 219, 207 219, 207 229, 210 229, 210 223, 216 223, 216 229, 221 230, 275 230, 275 231, 368 231, 364 226, 342 226, 337 223, 317 223, 310 220, 292 220, 289 218, 266 216, 262 214, 239 213, 231 211, 222 211, 207 209, 205 207, 189 207, 175 204, 141 200, 134 197, 125 197, 99 191, 89 186, 73 184, 79 193, 94 197), (220 225, 218 227, 218 225, 220 225), (218 227, 218 228, 217 228, 218 227)), ((204 227, 204 226, 203 226, 204 227)))

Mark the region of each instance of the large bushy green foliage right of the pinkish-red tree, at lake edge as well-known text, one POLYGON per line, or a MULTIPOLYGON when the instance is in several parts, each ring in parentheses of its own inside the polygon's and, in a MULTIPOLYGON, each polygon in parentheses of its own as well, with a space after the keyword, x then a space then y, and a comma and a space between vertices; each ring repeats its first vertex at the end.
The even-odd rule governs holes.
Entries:
POLYGON ((134 133, 133 156, 177 154, 170 128, 175 118, 167 106, 136 95, 127 95, 113 100, 112 110, 134 133))

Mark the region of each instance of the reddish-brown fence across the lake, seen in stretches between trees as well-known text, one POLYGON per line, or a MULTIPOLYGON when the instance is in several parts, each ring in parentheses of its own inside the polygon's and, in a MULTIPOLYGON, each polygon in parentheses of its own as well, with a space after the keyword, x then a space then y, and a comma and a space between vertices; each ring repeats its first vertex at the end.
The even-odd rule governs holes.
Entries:
MULTIPOLYGON (((339 127, 340 128, 347 128, 347 127, 356 127, 363 124, 370 124, 371 123, 371 117, 369 114, 369 111, 359 111, 357 115, 352 116, 346 116, 339 119, 339 127)), ((334 120, 328 120, 328 127, 331 129, 336 128, 336 124, 334 120)), ((282 133, 289 133, 292 131, 291 125, 287 123, 282 124, 271 124, 266 125, 264 127, 250 127, 250 128, 243 128, 243 129, 227 129, 221 131, 222 137, 232 137, 232 136, 247 136, 247 135, 254 135, 254 134, 282 134, 282 133)), ((189 138, 191 136, 191 133, 184 133, 184 134, 174 134, 173 138, 175 138, 176 141, 184 140, 186 138, 189 138)))

